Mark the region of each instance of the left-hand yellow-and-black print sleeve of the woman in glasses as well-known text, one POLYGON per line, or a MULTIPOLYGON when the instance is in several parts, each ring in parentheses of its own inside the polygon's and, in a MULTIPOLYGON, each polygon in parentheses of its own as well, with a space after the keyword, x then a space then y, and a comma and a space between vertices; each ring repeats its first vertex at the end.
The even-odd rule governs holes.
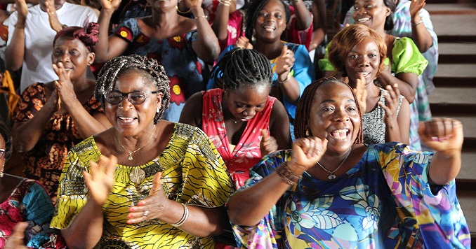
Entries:
POLYGON ((69 227, 74 217, 86 205, 87 188, 82 172, 89 171, 88 168, 89 165, 81 162, 76 150, 72 148, 63 164, 58 187, 58 203, 51 220, 51 227, 58 229, 69 227))

